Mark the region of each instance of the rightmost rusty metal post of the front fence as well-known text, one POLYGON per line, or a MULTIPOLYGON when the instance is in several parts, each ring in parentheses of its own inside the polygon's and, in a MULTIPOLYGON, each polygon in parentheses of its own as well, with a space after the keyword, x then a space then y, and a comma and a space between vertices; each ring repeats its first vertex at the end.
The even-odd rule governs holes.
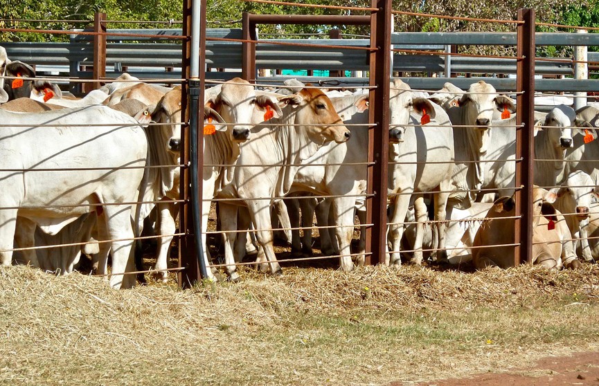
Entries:
POLYGON ((516 91, 518 92, 516 123, 524 127, 516 130, 516 187, 523 187, 515 194, 516 213, 521 217, 515 220, 514 264, 521 261, 532 262, 533 258, 533 181, 535 167, 535 10, 518 10, 518 20, 524 23, 517 27, 516 91))

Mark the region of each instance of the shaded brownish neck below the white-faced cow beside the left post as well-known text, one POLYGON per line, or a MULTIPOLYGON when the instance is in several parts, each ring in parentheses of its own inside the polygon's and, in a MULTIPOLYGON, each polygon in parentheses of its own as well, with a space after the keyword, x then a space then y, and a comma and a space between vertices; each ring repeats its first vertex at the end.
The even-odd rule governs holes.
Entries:
MULTIPOLYGON (((240 155, 239 144, 231 140, 226 131, 216 131, 210 136, 204 136, 204 163, 210 160, 213 175, 216 178, 215 189, 220 191, 233 181, 235 163, 240 155)), ((207 167, 204 167, 206 169, 207 167)))

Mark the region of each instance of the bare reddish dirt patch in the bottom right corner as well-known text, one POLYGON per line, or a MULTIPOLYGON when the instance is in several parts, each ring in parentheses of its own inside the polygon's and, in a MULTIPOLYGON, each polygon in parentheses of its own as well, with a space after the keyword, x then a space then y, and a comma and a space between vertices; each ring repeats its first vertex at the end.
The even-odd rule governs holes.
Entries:
MULTIPOLYGON (((394 383, 393 386, 402 384, 394 383)), ((408 385, 408 384, 403 384, 408 385)), ((414 384, 410 384, 414 385, 414 384)), ((478 374, 470 378, 454 378, 418 383, 418 386, 541 386, 599 385, 599 352, 575 353, 572 356, 547 357, 534 367, 509 369, 505 373, 478 374)))

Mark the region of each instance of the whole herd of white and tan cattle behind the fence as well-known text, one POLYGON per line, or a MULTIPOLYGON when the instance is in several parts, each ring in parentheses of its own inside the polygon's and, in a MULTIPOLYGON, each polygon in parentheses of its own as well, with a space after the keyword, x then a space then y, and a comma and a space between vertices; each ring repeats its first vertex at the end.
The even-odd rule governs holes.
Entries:
MULTIPOLYGON (((106 275, 111 257, 109 284, 130 287, 134 239, 151 224, 156 277, 166 281, 181 87, 123 73, 74 98, 1 47, 0 71, 1 264, 69 273, 87 255, 106 275)), ((483 81, 430 94, 399 79, 390 86, 386 263, 513 266, 515 102, 483 81)), ((312 232, 301 237, 298 228, 311 228, 314 215, 323 255, 339 256, 341 270, 364 264, 368 94, 297 81, 258 89, 235 78, 206 89, 204 100, 202 241, 217 199, 227 277, 240 279, 236 264, 251 248, 260 270, 280 275, 277 223, 294 253, 312 255, 312 232)), ((591 106, 535 112, 534 264, 576 268, 599 255, 598 117, 591 106)))

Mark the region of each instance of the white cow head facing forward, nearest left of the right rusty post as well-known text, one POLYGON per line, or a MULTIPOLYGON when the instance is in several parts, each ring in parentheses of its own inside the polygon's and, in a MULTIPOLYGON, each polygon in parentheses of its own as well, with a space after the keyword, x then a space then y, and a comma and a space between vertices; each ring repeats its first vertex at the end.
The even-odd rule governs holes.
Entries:
POLYGON ((459 102, 463 109, 463 122, 465 125, 476 126, 468 129, 474 137, 473 142, 479 148, 479 153, 487 151, 489 133, 488 129, 493 119, 494 111, 508 111, 514 113, 514 102, 505 95, 499 95, 497 90, 483 80, 470 85, 467 93, 462 95, 459 102))

